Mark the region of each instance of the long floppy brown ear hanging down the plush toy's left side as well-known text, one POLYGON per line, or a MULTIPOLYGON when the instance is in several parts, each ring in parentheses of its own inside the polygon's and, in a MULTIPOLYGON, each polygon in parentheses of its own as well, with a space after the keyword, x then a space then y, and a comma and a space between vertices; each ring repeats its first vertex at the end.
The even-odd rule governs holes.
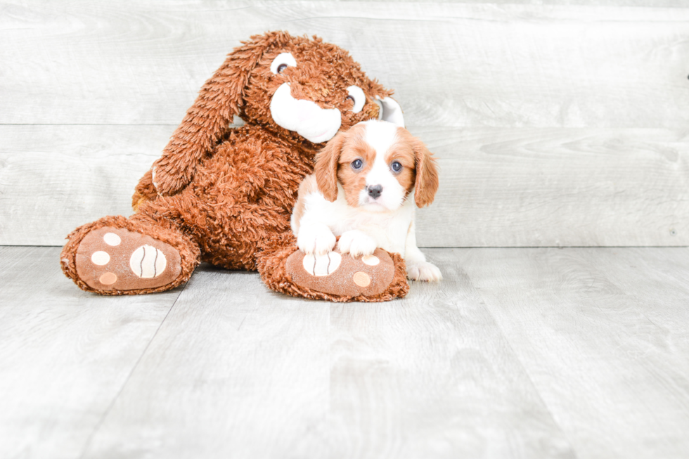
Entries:
POLYGON ((216 146, 239 115, 250 72, 263 53, 291 40, 286 32, 254 35, 228 54, 223 65, 202 86, 162 157, 153 164, 157 193, 172 195, 191 181, 202 157, 216 146))

